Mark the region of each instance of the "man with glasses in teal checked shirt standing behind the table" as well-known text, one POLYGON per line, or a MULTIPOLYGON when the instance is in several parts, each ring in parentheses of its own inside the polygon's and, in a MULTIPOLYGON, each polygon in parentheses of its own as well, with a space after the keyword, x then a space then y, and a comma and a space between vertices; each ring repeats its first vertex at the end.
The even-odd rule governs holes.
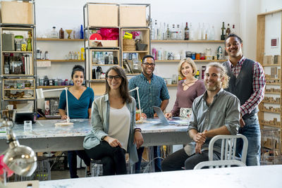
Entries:
MULTIPOLYGON (((142 58, 142 73, 129 80, 129 89, 139 87, 140 106, 142 109, 142 116, 147 118, 157 117, 157 113, 154 113, 153 106, 159 106, 162 111, 166 109, 168 105, 168 89, 166 83, 162 77, 154 75, 154 57, 147 55, 142 58)), ((137 92, 131 92, 131 95, 137 101, 137 92)), ((139 109, 138 102, 137 108, 139 109)), ((135 165, 136 173, 140 173, 140 164, 142 161, 142 153, 144 147, 137 149, 139 161, 135 165)), ((160 156, 159 147, 154 146, 154 158, 160 156)), ((161 171, 161 161, 159 158, 155 160, 155 171, 161 171)))

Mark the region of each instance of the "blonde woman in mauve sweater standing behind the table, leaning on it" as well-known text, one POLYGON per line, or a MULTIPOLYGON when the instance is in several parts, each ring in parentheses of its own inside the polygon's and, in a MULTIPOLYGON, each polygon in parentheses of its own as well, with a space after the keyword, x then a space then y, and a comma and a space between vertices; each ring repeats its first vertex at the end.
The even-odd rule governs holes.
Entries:
POLYGON ((197 66, 192 58, 184 58, 178 64, 178 73, 185 80, 178 82, 176 102, 170 113, 166 113, 166 118, 180 116, 180 118, 190 118, 191 107, 197 96, 204 94, 205 87, 202 80, 197 80, 197 66))

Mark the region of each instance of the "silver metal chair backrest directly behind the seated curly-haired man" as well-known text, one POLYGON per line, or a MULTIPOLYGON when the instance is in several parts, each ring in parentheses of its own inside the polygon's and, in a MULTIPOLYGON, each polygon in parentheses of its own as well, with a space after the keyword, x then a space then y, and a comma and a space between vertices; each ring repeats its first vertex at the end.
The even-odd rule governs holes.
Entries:
POLYGON ((247 157, 247 137, 243 134, 237 135, 216 135, 209 142, 209 161, 214 161, 214 142, 221 139, 221 160, 234 160, 239 159, 241 162, 246 163, 247 157), (242 157, 236 158, 236 141, 237 139, 243 139, 243 151, 242 157))

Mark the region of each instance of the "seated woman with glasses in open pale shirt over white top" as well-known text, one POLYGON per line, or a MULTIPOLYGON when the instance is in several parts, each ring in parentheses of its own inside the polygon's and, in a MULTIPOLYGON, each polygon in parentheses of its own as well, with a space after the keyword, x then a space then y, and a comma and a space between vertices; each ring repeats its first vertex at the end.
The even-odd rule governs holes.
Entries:
POLYGON ((83 142, 87 155, 102 161, 103 175, 127 173, 125 152, 130 155, 130 165, 138 161, 136 146, 143 144, 143 137, 135 127, 135 108, 123 69, 116 65, 109 68, 106 93, 94 100, 92 131, 83 142))

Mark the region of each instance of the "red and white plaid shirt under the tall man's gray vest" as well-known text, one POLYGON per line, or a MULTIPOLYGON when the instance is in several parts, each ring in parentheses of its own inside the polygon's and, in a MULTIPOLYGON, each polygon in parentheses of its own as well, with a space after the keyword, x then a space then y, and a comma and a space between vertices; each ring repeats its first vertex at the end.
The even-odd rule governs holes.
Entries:
MULTIPOLYGON (((235 77, 238 77, 242 65, 245 61, 245 56, 243 56, 236 65, 233 65, 230 60, 228 60, 231 70, 235 77)), ((255 62, 252 67, 252 88, 254 93, 250 98, 240 106, 241 114, 251 113, 252 110, 259 105, 259 103, 264 99, 264 87, 265 87, 265 76, 264 69, 259 62, 255 62)), ((243 88, 242 88, 243 89, 243 88)))

